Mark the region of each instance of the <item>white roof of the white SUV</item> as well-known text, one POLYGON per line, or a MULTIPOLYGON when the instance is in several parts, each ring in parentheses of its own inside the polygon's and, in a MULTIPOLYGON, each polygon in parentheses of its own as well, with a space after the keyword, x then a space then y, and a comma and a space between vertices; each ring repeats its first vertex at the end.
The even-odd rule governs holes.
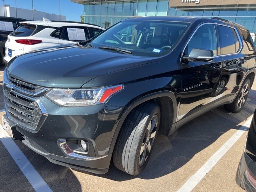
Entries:
POLYGON ((37 20, 37 21, 22 21, 20 23, 26 24, 34 24, 34 25, 43 25, 43 26, 51 26, 51 27, 63 27, 63 26, 86 26, 86 27, 94 27, 104 29, 98 25, 82 23, 82 22, 72 22, 72 21, 51 21, 51 20, 37 20))

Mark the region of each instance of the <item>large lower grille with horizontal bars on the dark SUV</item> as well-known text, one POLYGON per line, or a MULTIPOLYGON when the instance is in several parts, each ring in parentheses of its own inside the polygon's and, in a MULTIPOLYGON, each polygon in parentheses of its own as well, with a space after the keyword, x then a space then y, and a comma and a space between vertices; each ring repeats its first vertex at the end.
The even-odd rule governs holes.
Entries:
POLYGON ((4 91, 4 96, 10 119, 25 129, 36 130, 43 115, 37 102, 16 92, 4 91))

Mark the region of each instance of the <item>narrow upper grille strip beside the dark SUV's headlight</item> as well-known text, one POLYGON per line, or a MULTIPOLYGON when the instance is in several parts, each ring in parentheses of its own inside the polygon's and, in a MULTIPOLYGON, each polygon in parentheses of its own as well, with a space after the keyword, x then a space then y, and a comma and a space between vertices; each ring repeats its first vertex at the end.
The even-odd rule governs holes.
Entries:
POLYGON ((32 84, 32 83, 27 83, 21 80, 18 80, 17 78, 9 76, 9 81, 14 84, 15 86, 26 90, 28 92, 31 92, 32 94, 35 94, 37 92, 40 92, 44 89, 44 87, 32 84))

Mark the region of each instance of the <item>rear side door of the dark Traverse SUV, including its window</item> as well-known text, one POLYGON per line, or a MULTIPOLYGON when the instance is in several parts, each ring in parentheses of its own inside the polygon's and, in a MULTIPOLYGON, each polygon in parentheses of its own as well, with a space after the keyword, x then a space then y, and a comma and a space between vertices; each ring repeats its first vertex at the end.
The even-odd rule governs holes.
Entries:
POLYGON ((235 98, 247 68, 245 55, 241 52, 242 41, 235 27, 217 25, 220 54, 223 58, 222 74, 218 84, 215 105, 235 98))

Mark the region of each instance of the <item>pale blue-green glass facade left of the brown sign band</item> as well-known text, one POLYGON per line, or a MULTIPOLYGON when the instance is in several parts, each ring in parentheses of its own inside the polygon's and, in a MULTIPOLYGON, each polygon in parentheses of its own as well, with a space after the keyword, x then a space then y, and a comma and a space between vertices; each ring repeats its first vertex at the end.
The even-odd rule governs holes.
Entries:
POLYGON ((169 0, 132 0, 84 4, 84 22, 108 28, 133 16, 166 16, 169 0))

